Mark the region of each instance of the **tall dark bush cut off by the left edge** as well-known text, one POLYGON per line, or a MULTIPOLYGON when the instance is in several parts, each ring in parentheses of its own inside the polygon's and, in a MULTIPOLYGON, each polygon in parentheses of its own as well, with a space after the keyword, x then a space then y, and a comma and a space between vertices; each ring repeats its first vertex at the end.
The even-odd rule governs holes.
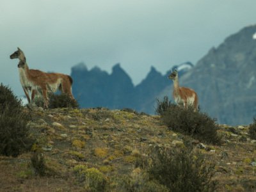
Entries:
POLYGON ((0 85, 0 154, 18 156, 32 144, 28 138, 29 114, 7 86, 0 85))

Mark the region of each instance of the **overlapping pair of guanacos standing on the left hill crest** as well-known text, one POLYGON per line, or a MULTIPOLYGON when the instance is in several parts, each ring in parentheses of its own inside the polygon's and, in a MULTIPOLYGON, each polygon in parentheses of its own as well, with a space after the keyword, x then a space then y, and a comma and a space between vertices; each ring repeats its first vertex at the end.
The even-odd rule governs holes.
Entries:
POLYGON ((45 73, 40 70, 29 69, 26 62, 24 52, 18 47, 18 50, 10 55, 10 58, 19 59, 19 76, 20 84, 24 90, 24 93, 28 99, 28 102, 33 102, 36 93, 41 93, 44 98, 44 107, 48 108, 49 99, 47 92, 57 92, 60 90, 62 93, 74 99, 72 95, 72 78, 65 74, 60 73, 45 73), (31 99, 29 97, 31 92, 31 99))

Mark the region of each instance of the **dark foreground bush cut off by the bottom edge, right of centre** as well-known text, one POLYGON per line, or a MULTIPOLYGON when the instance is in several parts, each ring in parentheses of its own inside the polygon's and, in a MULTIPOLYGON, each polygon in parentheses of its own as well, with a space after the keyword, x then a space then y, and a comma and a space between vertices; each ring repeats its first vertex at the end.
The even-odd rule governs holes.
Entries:
POLYGON ((170 191, 214 191, 211 178, 214 165, 205 163, 204 156, 186 148, 161 149, 152 152, 148 173, 170 191))

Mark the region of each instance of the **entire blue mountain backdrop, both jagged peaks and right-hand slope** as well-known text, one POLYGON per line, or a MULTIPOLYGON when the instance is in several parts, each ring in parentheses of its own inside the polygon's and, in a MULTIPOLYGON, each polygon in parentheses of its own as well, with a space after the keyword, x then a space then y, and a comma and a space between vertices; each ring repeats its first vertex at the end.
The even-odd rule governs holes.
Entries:
MULTIPOLYGON (((173 68, 179 71, 180 86, 193 88, 202 111, 221 124, 250 124, 256 116, 256 26, 228 36, 199 60, 173 68)), ((172 99, 172 81, 156 68, 140 84, 116 64, 111 74, 99 67, 88 70, 83 63, 72 67, 73 93, 81 108, 132 108, 154 114, 156 98, 172 99)))

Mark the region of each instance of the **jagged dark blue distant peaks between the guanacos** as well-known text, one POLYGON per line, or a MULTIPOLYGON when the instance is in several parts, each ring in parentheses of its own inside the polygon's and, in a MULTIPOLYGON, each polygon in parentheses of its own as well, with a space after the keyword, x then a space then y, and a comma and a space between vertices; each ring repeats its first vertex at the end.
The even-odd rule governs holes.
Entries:
MULTIPOLYGON (((185 73, 193 65, 189 62, 175 66, 185 73)), ((172 68, 174 70, 174 68, 172 68)), ((72 90, 81 108, 105 107, 110 109, 132 108, 136 111, 154 114, 157 95, 172 83, 166 75, 151 67, 147 77, 134 86, 132 79, 120 64, 108 74, 99 67, 88 70, 84 63, 72 67, 74 80, 72 90)))

